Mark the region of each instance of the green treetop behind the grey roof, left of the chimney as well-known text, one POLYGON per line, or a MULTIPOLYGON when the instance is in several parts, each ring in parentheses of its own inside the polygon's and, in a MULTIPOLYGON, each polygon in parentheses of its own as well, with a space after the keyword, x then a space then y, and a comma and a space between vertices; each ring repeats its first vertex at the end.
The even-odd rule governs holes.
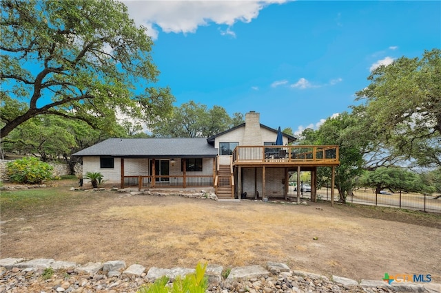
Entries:
POLYGON ((208 138, 243 123, 243 116, 234 113, 231 118, 223 107, 189 101, 175 107, 170 116, 152 124, 154 135, 170 138, 208 138))

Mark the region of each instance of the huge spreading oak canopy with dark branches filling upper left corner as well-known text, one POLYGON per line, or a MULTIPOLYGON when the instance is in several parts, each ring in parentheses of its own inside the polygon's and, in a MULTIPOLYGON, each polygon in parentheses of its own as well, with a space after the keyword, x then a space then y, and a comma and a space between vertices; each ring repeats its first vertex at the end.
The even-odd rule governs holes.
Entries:
POLYGON ((150 54, 152 39, 123 3, 3 0, 0 5, 1 138, 40 115, 83 120, 111 132, 117 110, 144 120, 172 110, 170 89, 152 87, 159 74, 150 54))

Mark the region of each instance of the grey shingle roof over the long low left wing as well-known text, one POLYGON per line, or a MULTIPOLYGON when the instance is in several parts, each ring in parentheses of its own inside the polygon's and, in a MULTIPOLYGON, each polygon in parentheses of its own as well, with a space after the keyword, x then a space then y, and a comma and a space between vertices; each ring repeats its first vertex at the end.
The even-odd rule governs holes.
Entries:
POLYGON ((207 158, 216 157, 218 149, 208 144, 206 138, 109 138, 74 155, 207 158))

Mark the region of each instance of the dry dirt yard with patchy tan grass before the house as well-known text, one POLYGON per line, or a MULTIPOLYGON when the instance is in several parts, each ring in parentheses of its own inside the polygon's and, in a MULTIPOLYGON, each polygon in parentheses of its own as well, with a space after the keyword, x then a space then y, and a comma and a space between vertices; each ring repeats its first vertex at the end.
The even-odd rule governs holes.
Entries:
MULTIPOLYGON (((68 191, 52 204, 1 207, 1 255, 172 268, 287 263, 351 279, 431 274, 441 283, 441 217, 309 203, 214 202, 68 191)), ((41 188, 39 192, 45 192, 41 188)))

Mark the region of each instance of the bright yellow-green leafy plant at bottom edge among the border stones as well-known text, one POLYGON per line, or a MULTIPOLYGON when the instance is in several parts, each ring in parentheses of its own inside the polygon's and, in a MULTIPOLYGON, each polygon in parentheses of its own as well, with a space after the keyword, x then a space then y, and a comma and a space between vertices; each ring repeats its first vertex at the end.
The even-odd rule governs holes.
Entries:
POLYGON ((152 285, 141 287, 139 293, 204 293, 208 287, 208 280, 205 277, 207 263, 196 265, 194 274, 187 274, 185 278, 178 276, 171 287, 167 286, 169 279, 163 276, 157 279, 152 285))

